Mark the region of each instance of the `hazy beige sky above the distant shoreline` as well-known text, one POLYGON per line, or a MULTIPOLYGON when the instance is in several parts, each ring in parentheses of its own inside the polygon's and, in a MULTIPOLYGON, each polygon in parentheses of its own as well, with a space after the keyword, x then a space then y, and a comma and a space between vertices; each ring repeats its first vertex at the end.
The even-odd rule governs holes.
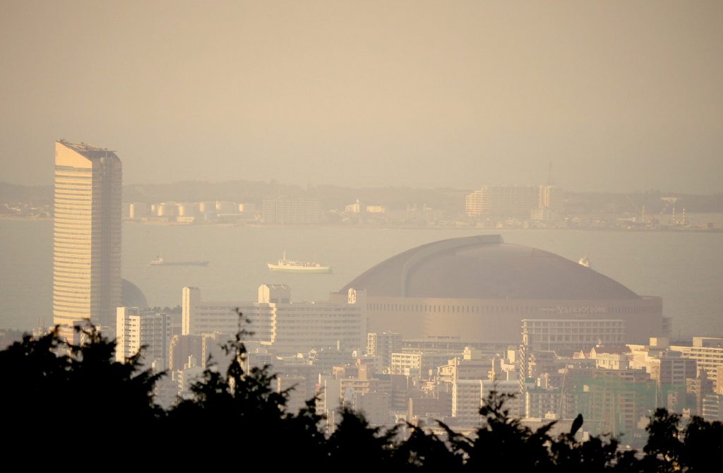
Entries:
POLYGON ((723 191, 723 1, 0 0, 0 181, 723 191))

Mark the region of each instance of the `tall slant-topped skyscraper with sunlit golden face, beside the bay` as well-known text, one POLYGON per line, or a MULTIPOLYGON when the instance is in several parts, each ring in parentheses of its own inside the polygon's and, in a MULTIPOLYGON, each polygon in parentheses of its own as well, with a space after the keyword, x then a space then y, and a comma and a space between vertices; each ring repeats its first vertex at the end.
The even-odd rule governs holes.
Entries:
POLYGON ((55 144, 53 321, 61 336, 90 320, 113 337, 121 305, 121 160, 81 142, 55 144))

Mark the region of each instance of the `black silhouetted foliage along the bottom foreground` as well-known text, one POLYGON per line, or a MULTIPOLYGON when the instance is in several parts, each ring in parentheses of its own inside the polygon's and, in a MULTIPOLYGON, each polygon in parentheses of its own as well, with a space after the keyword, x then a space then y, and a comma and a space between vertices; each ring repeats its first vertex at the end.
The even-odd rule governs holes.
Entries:
MULTIPOLYGON (((621 451, 609 436, 578 442, 550 435, 552 424, 531 430, 505 409, 508 396, 492 393, 480 410, 482 425, 467 437, 440 423, 432 430, 370 427, 349 409, 331 435, 322 430, 314 400, 287 412, 288 393, 272 388, 267 368, 242 368, 240 334, 226 349, 235 354, 226 372, 207 370, 192 399, 164 410, 153 389, 163 376, 142 370, 139 356, 115 362, 115 343, 95 331, 73 346, 56 333, 25 336, 0 351, 4 459, 33 464, 129 461, 142 465, 211 468, 253 459, 262 469, 463 472, 500 467, 535 472, 705 472, 723 461, 723 425, 680 418, 658 409, 641 452, 621 451), (40 453, 40 454, 39 454, 40 453), (332 470, 333 469, 333 470, 332 470)), ((577 424, 579 424, 578 419, 577 424)), ((578 427, 578 425, 576 425, 578 427)))

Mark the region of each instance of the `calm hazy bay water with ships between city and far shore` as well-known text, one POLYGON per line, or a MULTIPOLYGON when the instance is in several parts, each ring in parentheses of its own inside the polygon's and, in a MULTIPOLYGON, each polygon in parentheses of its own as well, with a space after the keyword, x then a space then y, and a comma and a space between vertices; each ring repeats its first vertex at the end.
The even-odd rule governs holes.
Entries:
MULTIPOLYGON (((369 229, 337 226, 176 226, 124 223, 123 277, 151 306, 181 303, 182 286, 204 299, 254 300, 263 283, 286 283, 293 300, 326 299, 364 270, 419 244, 500 233, 577 261, 641 295, 663 298, 677 336, 723 334, 723 233, 589 230, 369 229), (270 273, 269 261, 287 257, 333 265, 332 274, 270 273), (208 260, 208 266, 150 266, 208 260)), ((0 328, 48 325, 51 311, 51 221, 0 220, 0 328)))

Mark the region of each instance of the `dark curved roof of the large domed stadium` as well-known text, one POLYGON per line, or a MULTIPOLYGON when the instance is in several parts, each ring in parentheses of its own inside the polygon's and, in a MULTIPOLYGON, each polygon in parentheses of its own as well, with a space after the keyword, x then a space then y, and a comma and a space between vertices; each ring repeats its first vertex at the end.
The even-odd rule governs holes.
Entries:
POLYGON ((500 235, 423 244, 390 257, 341 289, 372 297, 458 299, 640 299, 617 281, 500 235))

